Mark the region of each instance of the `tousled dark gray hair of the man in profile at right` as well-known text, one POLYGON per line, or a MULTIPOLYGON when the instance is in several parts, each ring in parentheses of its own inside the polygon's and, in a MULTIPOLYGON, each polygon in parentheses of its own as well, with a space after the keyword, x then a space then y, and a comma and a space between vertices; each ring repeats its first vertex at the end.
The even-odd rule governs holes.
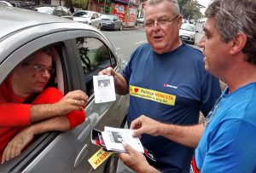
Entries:
POLYGON ((256 1, 255 0, 214 0, 206 10, 207 18, 216 20, 216 27, 222 41, 235 39, 237 33, 247 35, 242 52, 245 61, 256 64, 256 1))

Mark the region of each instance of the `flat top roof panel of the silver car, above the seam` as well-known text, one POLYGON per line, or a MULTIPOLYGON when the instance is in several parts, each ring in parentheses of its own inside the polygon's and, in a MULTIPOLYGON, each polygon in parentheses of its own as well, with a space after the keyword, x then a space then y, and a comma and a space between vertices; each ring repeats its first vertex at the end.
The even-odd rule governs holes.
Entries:
POLYGON ((0 8, 0 39, 11 32, 15 32, 26 27, 57 22, 73 22, 73 20, 67 20, 59 16, 42 14, 27 9, 3 7, 0 8))

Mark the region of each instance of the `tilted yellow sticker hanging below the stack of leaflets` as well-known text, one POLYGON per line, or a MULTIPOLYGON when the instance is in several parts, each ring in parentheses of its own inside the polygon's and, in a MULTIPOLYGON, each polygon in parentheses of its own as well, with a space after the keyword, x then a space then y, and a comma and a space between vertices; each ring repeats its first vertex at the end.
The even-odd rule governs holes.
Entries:
POLYGON ((109 158, 109 156, 111 156, 112 153, 108 153, 105 152, 102 148, 97 151, 93 156, 90 157, 90 159, 88 159, 88 162, 90 163, 90 165, 92 166, 92 168, 94 170, 96 170, 96 168, 101 165, 106 159, 109 158))

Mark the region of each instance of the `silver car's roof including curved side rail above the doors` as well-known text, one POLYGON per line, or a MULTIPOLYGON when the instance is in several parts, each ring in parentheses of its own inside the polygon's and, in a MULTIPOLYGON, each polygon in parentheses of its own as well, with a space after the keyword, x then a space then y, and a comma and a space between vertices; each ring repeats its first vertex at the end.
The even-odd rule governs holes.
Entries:
POLYGON ((0 26, 0 63, 21 44, 53 32, 78 30, 97 32, 109 43, 107 37, 94 26, 28 9, 1 7, 0 26))

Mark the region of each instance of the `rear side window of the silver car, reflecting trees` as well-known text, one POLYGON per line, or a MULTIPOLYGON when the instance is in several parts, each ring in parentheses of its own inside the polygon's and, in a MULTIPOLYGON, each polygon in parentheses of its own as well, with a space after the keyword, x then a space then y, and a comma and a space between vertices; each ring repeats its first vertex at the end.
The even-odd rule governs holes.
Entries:
POLYGON ((102 41, 94 37, 78 37, 76 41, 84 71, 86 93, 90 96, 93 93, 93 75, 97 75, 108 66, 116 66, 116 61, 102 41))

